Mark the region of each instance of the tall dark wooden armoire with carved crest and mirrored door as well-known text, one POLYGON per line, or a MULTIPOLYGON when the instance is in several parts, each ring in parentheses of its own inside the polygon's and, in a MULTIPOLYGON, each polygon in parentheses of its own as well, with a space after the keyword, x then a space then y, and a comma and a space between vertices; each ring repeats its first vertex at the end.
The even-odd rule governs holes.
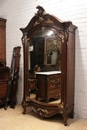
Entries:
POLYGON ((63 116, 64 125, 67 125, 67 118, 74 117, 75 30, 77 27, 71 21, 64 22, 46 13, 41 6, 37 9, 37 13, 28 25, 21 28, 24 54, 23 113, 26 113, 27 106, 31 106, 37 115, 45 118, 59 113, 63 116), (35 42, 33 42, 34 39, 35 42), (43 42, 41 39, 44 39, 43 42), (42 43, 43 52, 40 48, 42 43), (44 61, 41 63, 33 61, 32 64, 32 60, 36 60, 38 56, 34 50, 35 45, 40 48, 38 52, 43 53, 44 58, 41 59, 44 61), (29 51, 32 51, 35 56, 32 57, 29 51), (54 63, 55 57, 57 58, 54 63), (39 67, 41 71, 35 72, 33 69, 37 80, 35 98, 32 94, 28 94, 29 69, 32 69, 32 66, 39 67), (42 66, 45 68, 55 66, 55 70, 50 69, 46 72, 42 66), (42 72, 43 70, 45 72, 42 72))

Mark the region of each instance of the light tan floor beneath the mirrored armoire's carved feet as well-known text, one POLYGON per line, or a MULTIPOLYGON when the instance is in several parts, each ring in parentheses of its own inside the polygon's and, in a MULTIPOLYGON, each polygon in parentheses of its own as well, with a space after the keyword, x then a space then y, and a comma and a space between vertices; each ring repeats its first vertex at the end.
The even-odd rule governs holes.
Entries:
POLYGON ((0 130, 87 130, 85 119, 68 119, 68 126, 64 126, 61 116, 41 119, 30 107, 27 114, 23 115, 22 112, 21 105, 16 105, 15 109, 0 108, 0 130))

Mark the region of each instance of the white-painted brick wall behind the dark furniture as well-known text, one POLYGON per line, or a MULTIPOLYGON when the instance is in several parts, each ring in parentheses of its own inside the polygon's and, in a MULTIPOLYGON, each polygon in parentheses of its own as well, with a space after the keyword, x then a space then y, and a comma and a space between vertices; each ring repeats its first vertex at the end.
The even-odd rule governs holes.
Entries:
MULTIPOLYGON (((13 47, 22 47, 22 33, 19 29, 28 24, 37 12, 37 5, 64 21, 72 21, 78 27, 75 46, 75 116, 87 118, 87 0, 0 0, 0 17, 7 19, 7 65, 10 67, 13 47)), ((21 103, 23 97, 22 55, 21 48, 18 103, 21 103)))

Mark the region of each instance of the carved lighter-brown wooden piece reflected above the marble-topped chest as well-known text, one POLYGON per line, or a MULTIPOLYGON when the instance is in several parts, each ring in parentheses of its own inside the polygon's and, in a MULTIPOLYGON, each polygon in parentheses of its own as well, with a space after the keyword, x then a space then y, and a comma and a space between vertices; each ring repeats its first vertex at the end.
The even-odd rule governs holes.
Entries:
POLYGON ((44 64, 56 65, 61 70, 61 41, 57 37, 45 37, 44 64))

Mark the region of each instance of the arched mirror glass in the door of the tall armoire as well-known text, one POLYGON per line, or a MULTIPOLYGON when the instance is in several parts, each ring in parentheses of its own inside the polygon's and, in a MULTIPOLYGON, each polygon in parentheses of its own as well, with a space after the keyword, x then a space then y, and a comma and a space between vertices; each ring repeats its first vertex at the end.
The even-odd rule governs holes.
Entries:
POLYGON ((49 29, 29 41, 29 93, 41 102, 61 101, 61 39, 49 29))

